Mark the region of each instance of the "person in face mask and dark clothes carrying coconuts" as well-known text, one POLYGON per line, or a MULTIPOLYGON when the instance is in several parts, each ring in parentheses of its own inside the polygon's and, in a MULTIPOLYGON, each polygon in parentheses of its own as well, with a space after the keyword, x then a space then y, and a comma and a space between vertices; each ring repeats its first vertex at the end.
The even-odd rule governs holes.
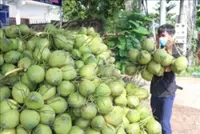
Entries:
MULTIPOLYGON (((171 55, 173 55, 174 35, 173 25, 164 24, 158 28, 159 48, 165 49, 171 55)), ((173 56, 178 57, 178 55, 173 56)), ((162 126, 162 134, 172 134, 170 120, 176 89, 176 76, 170 66, 165 68, 163 76, 153 76, 150 86, 150 105, 153 116, 162 126)))

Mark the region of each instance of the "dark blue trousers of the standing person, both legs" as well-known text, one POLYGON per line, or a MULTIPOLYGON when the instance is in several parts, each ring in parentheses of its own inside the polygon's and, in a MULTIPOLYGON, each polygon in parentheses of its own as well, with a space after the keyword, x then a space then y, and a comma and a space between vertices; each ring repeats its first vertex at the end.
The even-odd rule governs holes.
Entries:
POLYGON ((172 134, 171 116, 175 96, 156 97, 151 96, 151 108, 154 118, 162 126, 162 134, 172 134))

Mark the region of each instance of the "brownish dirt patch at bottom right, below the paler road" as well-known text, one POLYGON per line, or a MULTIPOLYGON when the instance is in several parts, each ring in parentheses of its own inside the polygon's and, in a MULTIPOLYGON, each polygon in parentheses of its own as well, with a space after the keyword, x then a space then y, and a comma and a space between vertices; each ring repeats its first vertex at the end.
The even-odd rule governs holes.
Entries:
POLYGON ((200 109, 174 105, 171 124, 173 134, 200 134, 200 109))

